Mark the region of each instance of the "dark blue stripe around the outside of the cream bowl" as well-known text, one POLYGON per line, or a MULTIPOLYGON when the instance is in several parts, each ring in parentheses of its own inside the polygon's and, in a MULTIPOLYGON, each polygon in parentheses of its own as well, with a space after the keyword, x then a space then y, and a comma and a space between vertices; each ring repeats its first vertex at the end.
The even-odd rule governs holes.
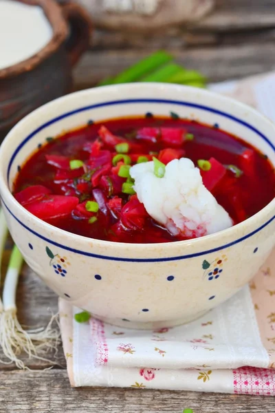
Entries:
POLYGON ((265 226, 267 226, 268 224, 270 224, 274 218, 275 215, 270 218, 270 220, 268 220, 267 222, 265 222, 265 224, 259 226, 259 228, 255 229, 254 231, 252 231, 251 233, 244 235, 243 237, 239 238, 238 240, 229 242, 228 244, 224 244, 221 246, 217 246, 217 248, 212 248, 210 250, 207 251, 201 251, 199 253, 194 253, 194 254, 188 254, 188 255, 178 255, 177 257, 165 257, 165 258, 124 258, 124 257, 110 257, 109 255, 99 255, 99 254, 93 254, 93 253, 87 253, 86 251, 80 251, 77 250, 76 248, 71 248, 69 246, 65 246, 63 244, 58 244, 58 242, 54 242, 52 240, 50 240, 49 238, 44 237, 43 235, 36 233, 36 231, 30 229, 27 225, 23 224, 23 222, 21 222, 13 213, 12 211, 10 211, 10 209, 7 207, 7 205, 5 204, 5 202, 3 201, 3 199, 1 199, 1 201, 3 202, 3 205, 5 206, 5 208, 7 209, 7 211, 10 213, 10 215, 12 215, 12 217, 14 218, 14 220, 17 220, 17 222, 19 222, 19 224, 21 224, 21 226, 23 226, 25 229, 27 229, 28 231, 30 231, 30 233, 36 235, 36 237, 41 238, 41 240, 44 240, 46 242, 48 242, 49 244, 52 244, 54 246, 58 246, 58 248, 63 248, 66 251, 70 251, 71 253, 76 253, 76 254, 80 254, 80 255, 85 255, 86 257, 93 257, 93 258, 99 258, 100 260, 111 260, 111 261, 122 261, 122 262, 166 262, 166 261, 179 261, 179 260, 187 260, 188 258, 194 258, 194 257, 200 257, 201 255, 206 255, 206 254, 211 254, 211 253, 215 253, 217 251, 221 251, 224 248, 228 248, 229 246, 235 245, 235 244, 239 244, 239 242, 242 242, 244 240, 247 240, 248 238, 252 237, 252 235, 255 235, 256 233, 258 233, 259 231, 261 231, 263 228, 265 228, 265 226))

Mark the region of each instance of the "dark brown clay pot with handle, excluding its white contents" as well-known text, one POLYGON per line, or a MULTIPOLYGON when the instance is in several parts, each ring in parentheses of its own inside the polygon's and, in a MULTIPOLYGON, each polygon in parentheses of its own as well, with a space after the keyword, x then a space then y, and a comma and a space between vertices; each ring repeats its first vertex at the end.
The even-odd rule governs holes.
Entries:
POLYGON ((53 36, 37 54, 0 70, 0 141, 26 114, 72 90, 72 67, 89 47, 91 19, 84 8, 54 0, 16 0, 39 5, 53 36))

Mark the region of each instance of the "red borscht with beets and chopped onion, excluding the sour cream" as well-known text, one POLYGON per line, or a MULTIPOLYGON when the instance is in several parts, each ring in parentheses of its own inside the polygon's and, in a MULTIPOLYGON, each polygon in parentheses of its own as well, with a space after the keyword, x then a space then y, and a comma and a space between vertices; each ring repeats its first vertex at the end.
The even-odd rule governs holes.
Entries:
POLYGON ((131 243, 188 239, 155 222, 127 178, 128 165, 153 156, 165 165, 182 157, 201 165, 203 184, 234 224, 274 198, 267 156, 218 125, 176 116, 119 118, 89 122, 41 144, 19 168, 14 196, 38 218, 85 237, 131 243))

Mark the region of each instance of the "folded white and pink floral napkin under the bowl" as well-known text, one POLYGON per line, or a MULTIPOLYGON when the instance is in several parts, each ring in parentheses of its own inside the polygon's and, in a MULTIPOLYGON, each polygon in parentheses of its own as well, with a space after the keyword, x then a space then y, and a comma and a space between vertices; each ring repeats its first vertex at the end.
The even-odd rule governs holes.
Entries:
MULTIPOLYGON (((275 74, 210 89, 275 116, 275 74)), ((79 324, 78 308, 63 299, 59 307, 72 386, 275 395, 275 250, 250 286, 184 326, 147 331, 96 319, 79 324)))

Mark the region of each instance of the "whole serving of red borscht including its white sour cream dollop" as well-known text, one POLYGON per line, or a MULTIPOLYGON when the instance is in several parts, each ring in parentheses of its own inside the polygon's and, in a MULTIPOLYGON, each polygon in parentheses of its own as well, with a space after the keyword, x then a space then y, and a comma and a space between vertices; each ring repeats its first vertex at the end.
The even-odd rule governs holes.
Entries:
POLYGON ((146 114, 49 137, 13 194, 60 229, 113 242, 190 240, 239 224, 274 198, 264 153, 219 129, 146 114))

